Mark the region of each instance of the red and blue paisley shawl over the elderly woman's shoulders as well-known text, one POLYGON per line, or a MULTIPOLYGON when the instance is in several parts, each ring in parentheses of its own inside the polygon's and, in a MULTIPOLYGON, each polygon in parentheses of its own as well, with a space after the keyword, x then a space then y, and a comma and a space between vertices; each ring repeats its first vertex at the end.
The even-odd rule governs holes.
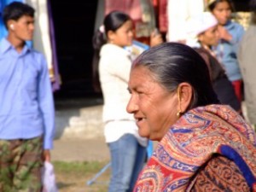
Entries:
POLYGON ((256 191, 253 129, 232 108, 209 105, 190 110, 172 125, 140 173, 134 192, 192 191, 201 168, 216 154, 224 158, 218 162, 229 160, 238 167, 247 186, 256 191))

